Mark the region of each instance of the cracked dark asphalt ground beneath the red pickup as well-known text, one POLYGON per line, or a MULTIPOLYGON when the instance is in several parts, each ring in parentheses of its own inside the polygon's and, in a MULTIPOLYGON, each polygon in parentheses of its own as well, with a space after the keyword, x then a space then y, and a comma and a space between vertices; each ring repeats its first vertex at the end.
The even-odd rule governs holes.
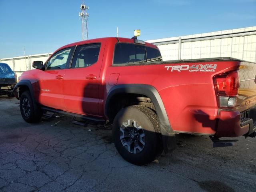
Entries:
POLYGON ((3 192, 256 190, 256 138, 212 148, 207 136, 179 134, 174 152, 135 166, 116 151, 109 126, 78 126, 66 116, 28 124, 18 100, 5 96, 0 120, 3 192))

